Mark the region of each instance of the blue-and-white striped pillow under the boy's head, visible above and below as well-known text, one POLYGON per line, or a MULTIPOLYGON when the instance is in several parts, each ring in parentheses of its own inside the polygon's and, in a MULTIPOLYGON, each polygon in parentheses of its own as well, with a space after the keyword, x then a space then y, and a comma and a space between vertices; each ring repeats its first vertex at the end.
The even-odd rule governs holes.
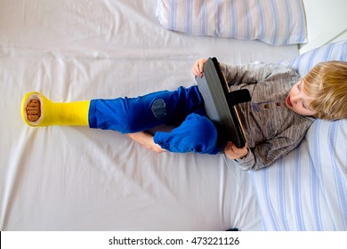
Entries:
MULTIPOLYGON (((305 75, 319 61, 347 61, 347 41, 282 63, 305 75)), ((316 120, 301 145, 250 173, 267 230, 347 230, 347 120, 316 120)))

